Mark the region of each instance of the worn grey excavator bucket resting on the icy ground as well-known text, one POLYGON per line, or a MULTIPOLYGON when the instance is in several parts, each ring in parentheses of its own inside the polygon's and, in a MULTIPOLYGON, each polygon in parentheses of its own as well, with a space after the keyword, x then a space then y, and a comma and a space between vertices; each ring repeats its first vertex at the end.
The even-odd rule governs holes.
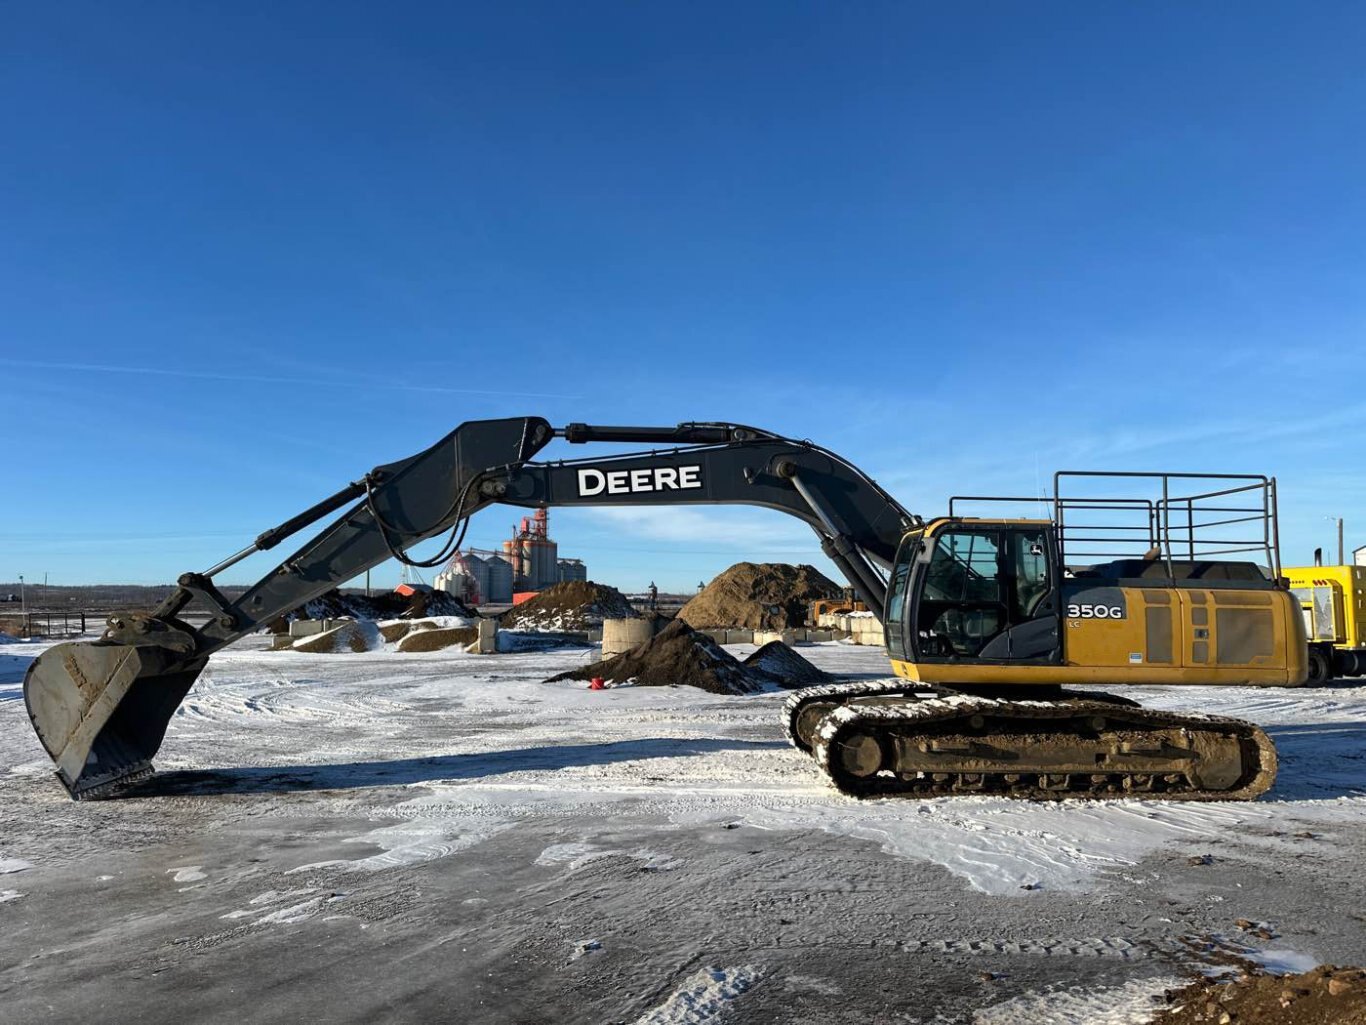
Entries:
POLYGON ((23 700, 71 797, 112 797, 152 775, 171 716, 205 661, 98 641, 59 644, 34 660, 23 700))

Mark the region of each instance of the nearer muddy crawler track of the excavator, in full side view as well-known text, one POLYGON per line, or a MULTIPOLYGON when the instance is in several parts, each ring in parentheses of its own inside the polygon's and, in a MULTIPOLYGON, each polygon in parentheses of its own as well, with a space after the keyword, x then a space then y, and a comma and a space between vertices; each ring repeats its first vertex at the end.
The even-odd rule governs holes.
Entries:
POLYGON ((813 754, 859 798, 1250 801, 1276 779, 1253 723, 1105 700, 856 701, 821 720, 813 754))

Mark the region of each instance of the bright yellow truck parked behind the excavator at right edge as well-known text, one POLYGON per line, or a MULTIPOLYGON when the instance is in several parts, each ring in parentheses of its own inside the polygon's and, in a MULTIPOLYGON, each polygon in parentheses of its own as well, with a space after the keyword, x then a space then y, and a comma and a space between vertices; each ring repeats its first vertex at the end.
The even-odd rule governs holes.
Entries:
POLYGON ((1309 686, 1366 676, 1366 566, 1281 569, 1305 614, 1309 686))

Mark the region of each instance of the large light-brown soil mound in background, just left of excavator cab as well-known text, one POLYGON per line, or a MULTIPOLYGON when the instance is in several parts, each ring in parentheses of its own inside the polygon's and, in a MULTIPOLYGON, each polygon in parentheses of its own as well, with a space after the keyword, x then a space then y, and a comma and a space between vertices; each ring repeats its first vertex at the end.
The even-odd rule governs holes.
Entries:
POLYGON ((806 622, 809 601, 839 594, 814 566, 742 562, 708 584, 678 618, 698 630, 784 630, 806 622))

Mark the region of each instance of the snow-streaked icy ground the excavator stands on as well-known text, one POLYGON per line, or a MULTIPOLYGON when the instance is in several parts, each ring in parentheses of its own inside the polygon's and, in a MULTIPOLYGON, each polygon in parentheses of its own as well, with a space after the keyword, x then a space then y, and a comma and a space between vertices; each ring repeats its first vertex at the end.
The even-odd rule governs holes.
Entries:
POLYGON ((0 645, 0 1020, 1142 1022, 1228 954, 1366 961, 1361 687, 1124 692, 1268 727, 1253 804, 861 804, 781 694, 251 638, 152 789, 74 804, 25 715, 40 651, 0 645))

